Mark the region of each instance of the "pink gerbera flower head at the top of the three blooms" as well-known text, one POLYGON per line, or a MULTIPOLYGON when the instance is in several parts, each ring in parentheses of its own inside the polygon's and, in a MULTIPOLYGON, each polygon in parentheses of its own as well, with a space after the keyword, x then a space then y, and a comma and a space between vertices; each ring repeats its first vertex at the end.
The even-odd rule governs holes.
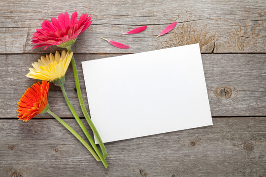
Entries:
POLYGON ((58 15, 58 20, 52 18, 51 22, 44 20, 41 24, 42 29, 36 29, 37 32, 33 34, 32 44, 36 47, 46 46, 44 49, 51 45, 56 45, 62 48, 70 47, 75 41, 77 36, 87 29, 92 21, 91 16, 82 14, 77 20, 77 12, 71 15, 69 21, 68 13, 65 12, 58 15))

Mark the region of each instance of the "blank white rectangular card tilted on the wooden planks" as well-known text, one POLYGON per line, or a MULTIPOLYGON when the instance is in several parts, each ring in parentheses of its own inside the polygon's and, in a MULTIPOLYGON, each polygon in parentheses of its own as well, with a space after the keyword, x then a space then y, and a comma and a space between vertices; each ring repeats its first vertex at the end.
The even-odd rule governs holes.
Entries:
POLYGON ((103 143, 212 125, 199 44, 84 61, 82 67, 103 143))

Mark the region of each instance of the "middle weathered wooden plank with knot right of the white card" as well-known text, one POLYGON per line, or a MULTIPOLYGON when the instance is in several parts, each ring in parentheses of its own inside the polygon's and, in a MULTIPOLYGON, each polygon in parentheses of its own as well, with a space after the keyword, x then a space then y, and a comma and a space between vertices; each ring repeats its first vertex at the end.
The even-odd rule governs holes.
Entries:
MULTIPOLYGON (((81 61, 115 55, 75 55, 85 104, 88 105, 81 61)), ((212 116, 266 115, 266 59, 265 54, 203 54, 205 79, 212 116)), ((17 102, 24 91, 37 80, 25 77, 28 67, 40 55, 0 55, 0 118, 17 116, 17 102), (21 64, 19 64, 21 63, 21 64), (8 82, 7 82, 8 81, 8 82)), ((66 90, 75 110, 79 108, 71 67, 66 74, 66 90)), ((195 86, 197 87, 197 86, 195 86)), ((72 117, 58 87, 51 85, 51 110, 60 117, 72 117)), ((48 115, 39 115, 47 117, 48 115)))

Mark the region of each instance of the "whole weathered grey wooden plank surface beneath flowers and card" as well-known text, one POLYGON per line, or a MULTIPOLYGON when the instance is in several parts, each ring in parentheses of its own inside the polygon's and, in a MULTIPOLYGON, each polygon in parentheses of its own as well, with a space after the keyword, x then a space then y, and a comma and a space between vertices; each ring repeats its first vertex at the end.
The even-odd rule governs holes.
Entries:
MULTIPOLYGON (((266 177, 265 21, 266 0, 1 0, 0 177, 266 177), (72 47, 87 109, 81 61, 199 43, 213 126, 106 143, 104 169, 50 115, 17 120, 17 102, 36 82, 25 77, 28 67, 62 50, 32 49, 33 32, 65 11, 93 20, 72 47), (175 29, 155 38, 174 21, 175 29), (121 34, 143 25, 141 33, 121 34)), ((65 86, 83 117, 71 67, 65 86)), ((82 134, 59 88, 51 85, 49 96, 52 111, 82 134)))

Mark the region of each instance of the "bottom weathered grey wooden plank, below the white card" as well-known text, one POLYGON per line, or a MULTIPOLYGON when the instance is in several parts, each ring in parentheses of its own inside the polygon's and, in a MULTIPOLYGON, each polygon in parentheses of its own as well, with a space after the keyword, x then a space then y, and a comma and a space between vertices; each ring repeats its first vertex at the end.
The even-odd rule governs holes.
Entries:
MULTIPOLYGON (((75 120, 64 120, 81 133, 75 120)), ((213 118, 213 126, 107 143, 107 170, 55 119, 0 119, 0 127, 3 177, 266 174, 266 118, 213 118)))

